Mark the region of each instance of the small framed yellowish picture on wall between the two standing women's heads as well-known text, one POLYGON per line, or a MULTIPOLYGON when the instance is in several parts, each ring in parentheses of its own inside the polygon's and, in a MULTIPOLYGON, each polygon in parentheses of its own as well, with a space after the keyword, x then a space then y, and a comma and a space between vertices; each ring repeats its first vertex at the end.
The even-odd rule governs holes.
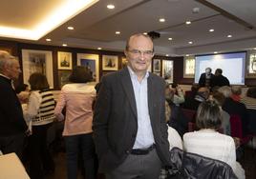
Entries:
POLYGON ((57 51, 57 69, 72 70, 72 53, 57 51))

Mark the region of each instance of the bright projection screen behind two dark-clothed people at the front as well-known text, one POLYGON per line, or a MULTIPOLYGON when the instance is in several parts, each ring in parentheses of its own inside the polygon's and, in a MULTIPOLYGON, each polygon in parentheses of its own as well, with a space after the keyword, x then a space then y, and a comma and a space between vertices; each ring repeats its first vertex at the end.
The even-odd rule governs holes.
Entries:
POLYGON ((196 56, 195 83, 206 68, 222 69, 231 85, 245 85, 245 52, 196 56))

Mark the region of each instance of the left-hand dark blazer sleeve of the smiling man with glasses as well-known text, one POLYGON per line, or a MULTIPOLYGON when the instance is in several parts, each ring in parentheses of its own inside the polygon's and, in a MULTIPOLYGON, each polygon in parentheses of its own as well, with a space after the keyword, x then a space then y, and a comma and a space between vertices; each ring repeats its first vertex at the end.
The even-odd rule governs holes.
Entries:
POLYGON ((102 77, 96 97, 93 130, 96 144, 96 153, 99 158, 109 149, 108 122, 111 110, 111 89, 105 77, 102 77))

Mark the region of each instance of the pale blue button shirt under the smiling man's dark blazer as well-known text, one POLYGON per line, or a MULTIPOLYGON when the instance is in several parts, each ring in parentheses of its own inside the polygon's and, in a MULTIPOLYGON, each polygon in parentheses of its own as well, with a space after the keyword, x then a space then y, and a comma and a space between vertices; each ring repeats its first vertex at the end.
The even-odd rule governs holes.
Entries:
POLYGON ((146 149, 155 143, 148 111, 147 78, 149 73, 147 71, 142 81, 139 82, 136 73, 130 67, 128 70, 135 92, 138 115, 138 131, 133 149, 146 149))

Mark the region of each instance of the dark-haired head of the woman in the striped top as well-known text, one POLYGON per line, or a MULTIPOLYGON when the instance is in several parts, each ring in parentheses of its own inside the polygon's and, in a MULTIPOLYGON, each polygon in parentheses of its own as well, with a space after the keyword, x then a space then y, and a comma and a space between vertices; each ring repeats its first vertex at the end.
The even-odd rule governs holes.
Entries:
POLYGON ((30 76, 29 83, 32 90, 49 89, 49 84, 46 76, 40 72, 34 72, 30 76))

